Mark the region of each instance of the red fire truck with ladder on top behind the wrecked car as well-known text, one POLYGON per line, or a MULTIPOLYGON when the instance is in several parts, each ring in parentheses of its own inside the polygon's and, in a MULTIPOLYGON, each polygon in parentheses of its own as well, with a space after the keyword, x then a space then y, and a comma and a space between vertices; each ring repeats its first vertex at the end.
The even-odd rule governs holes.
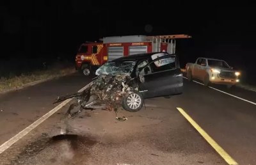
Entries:
POLYGON ((100 65, 122 56, 147 52, 175 54, 176 39, 191 38, 189 35, 162 36, 109 36, 100 42, 83 43, 76 55, 76 69, 90 75, 100 65))

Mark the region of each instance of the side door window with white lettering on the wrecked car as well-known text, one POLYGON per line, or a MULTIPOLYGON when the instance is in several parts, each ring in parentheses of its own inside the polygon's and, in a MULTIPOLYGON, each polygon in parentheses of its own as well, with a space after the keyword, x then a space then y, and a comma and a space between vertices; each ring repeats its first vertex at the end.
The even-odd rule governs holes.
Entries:
POLYGON ((175 57, 162 58, 154 61, 144 68, 143 72, 145 75, 154 74, 157 72, 164 72, 166 70, 172 70, 176 68, 175 57))

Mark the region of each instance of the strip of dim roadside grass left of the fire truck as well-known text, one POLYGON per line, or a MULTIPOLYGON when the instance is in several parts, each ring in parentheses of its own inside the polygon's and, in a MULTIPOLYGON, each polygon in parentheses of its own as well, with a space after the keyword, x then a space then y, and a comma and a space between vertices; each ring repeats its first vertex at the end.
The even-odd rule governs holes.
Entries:
POLYGON ((47 79, 61 77, 63 75, 72 74, 74 72, 76 72, 74 66, 60 67, 60 65, 55 65, 54 67, 48 68, 47 70, 36 70, 13 77, 1 77, 0 93, 9 90, 19 89, 28 85, 29 83, 33 83, 36 81, 44 81, 47 79))

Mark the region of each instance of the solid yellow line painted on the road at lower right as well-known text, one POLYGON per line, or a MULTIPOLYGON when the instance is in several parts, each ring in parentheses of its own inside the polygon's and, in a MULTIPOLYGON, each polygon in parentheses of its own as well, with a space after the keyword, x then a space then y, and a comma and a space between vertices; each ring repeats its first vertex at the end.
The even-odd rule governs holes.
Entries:
POLYGON ((182 108, 177 107, 177 109, 179 110, 179 112, 184 116, 184 118, 186 118, 186 120, 188 120, 189 123, 191 123, 191 125, 193 125, 193 127, 201 134, 201 136, 203 136, 203 138, 212 146, 212 148, 214 148, 214 150, 216 150, 216 152, 218 152, 220 154, 221 157, 223 157, 223 159, 228 163, 228 164, 232 164, 232 165, 237 165, 238 163, 230 156, 228 155, 227 152, 225 152, 225 150, 223 150, 223 148, 221 148, 220 145, 218 145, 218 143, 216 143, 216 141, 214 141, 214 139, 211 138, 211 136, 209 136, 209 134, 207 134, 204 129, 202 129, 182 108))

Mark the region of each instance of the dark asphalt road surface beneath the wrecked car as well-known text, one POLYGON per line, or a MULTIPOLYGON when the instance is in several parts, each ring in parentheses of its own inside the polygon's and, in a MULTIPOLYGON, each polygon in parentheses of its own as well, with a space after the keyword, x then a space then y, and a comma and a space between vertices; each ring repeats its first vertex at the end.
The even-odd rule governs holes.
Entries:
MULTIPOLYGON (((58 95, 76 92, 89 82, 73 74, 0 95, 0 145, 56 107, 52 100, 58 95)), ((227 164, 177 110, 181 107, 236 162, 256 164, 256 106, 248 102, 256 102, 256 93, 213 87, 184 79, 182 95, 147 99, 138 113, 120 110, 118 116, 128 118, 125 122, 100 109, 65 120, 67 104, 4 150, 0 162, 227 164)))

